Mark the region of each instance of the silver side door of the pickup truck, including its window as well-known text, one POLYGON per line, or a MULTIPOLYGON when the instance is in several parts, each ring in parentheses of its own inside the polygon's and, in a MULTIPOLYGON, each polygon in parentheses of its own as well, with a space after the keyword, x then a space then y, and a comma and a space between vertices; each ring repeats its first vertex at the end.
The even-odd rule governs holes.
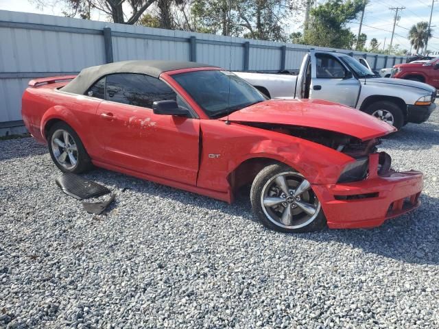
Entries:
POLYGON ((311 54, 310 99, 326 99, 355 107, 359 90, 359 80, 335 56, 311 54))

